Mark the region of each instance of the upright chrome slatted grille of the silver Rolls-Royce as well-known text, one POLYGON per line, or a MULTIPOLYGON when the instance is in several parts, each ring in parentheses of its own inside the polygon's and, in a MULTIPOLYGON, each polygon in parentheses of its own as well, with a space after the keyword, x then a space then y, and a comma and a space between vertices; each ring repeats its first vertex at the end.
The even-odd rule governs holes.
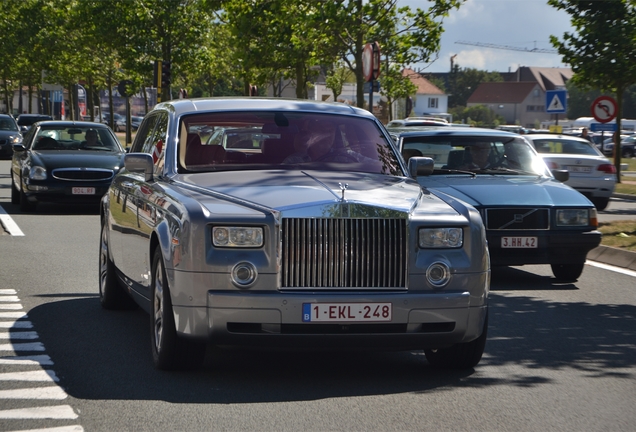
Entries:
POLYGON ((406 288, 404 219, 283 219, 282 246, 282 288, 406 288))

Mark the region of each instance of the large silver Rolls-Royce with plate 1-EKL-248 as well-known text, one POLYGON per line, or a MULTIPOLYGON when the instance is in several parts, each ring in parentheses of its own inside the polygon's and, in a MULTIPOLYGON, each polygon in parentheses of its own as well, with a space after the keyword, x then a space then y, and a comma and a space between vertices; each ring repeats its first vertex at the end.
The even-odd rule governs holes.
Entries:
POLYGON ((424 349, 470 368, 487 334, 479 213, 420 188, 382 124, 344 104, 174 100, 146 115, 102 200, 100 301, 150 313, 155 367, 205 345, 424 349), (199 132, 258 128, 258 152, 199 132), (328 151, 324 151, 327 148, 328 151))

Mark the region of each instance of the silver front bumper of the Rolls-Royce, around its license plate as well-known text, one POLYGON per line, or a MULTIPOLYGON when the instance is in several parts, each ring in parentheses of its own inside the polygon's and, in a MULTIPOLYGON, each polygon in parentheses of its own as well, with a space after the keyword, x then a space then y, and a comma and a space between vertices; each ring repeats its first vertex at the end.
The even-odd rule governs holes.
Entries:
MULTIPOLYGON (((468 289, 449 292, 207 291, 205 305, 177 305, 176 300, 173 303, 175 323, 181 335, 216 345, 338 349, 444 347, 479 337, 487 312, 489 272, 455 278, 460 286, 482 284, 482 295, 471 294, 468 289), (306 323, 302 320, 305 303, 361 302, 391 303, 391 322, 306 323)), ((174 294, 172 297, 175 299, 174 294)))

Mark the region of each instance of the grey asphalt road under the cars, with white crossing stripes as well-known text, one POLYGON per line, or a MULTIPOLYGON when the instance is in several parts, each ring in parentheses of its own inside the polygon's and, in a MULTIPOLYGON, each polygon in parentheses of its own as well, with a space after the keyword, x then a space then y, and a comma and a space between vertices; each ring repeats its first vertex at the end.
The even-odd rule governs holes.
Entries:
POLYGON ((634 430, 634 272, 588 265, 557 284, 549 266, 494 269, 471 371, 417 351, 211 349, 200 371, 159 372, 148 316, 100 308, 97 210, 21 214, 7 172, 0 161, 0 206, 24 235, 0 235, 0 325, 26 312, 32 328, 0 327, 2 431, 634 430), (22 343, 33 351, 11 352, 22 343))

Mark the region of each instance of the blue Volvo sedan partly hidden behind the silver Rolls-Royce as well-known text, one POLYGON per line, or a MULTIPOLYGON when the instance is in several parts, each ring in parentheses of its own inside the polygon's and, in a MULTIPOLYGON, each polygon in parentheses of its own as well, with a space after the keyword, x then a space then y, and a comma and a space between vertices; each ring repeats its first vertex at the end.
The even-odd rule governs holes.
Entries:
MULTIPOLYGON (((402 132, 405 159, 427 156, 431 175, 422 187, 475 206, 486 225, 493 265, 550 264, 560 281, 575 281, 599 245, 594 205, 554 178, 523 136, 480 128, 402 132)), ((566 171, 555 171, 566 181, 566 171)))

